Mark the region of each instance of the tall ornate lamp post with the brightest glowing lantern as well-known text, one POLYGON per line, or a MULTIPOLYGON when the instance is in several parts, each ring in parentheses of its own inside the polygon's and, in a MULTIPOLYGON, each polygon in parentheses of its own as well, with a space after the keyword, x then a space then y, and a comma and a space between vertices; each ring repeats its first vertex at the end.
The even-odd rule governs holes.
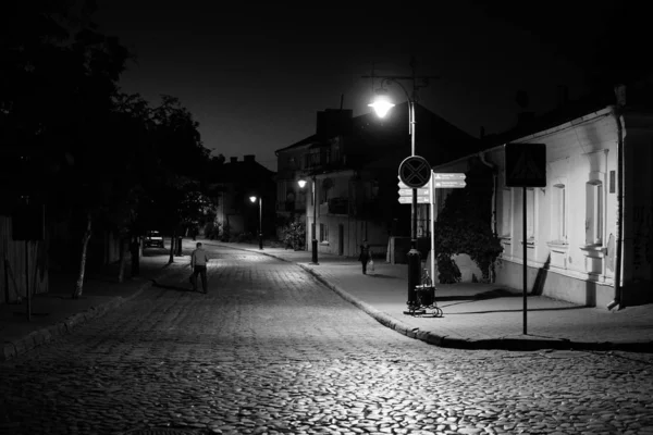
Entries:
MULTIPOLYGON (((412 69, 412 75, 410 76, 401 76, 401 75, 391 75, 391 76, 362 76, 364 78, 381 78, 381 86, 375 91, 375 99, 372 103, 368 104, 372 109, 379 117, 383 117, 387 114, 387 112, 395 105, 392 103, 390 98, 387 97, 386 89, 383 88, 384 83, 394 83, 397 84, 404 94, 406 95, 406 99, 408 100, 408 124, 409 124, 409 134, 410 134, 410 156, 415 154, 415 102, 417 101, 417 90, 420 87, 428 86, 429 78, 434 76, 417 76, 415 74, 416 62, 415 59, 410 60, 410 66, 412 69), (422 79, 423 85, 418 84, 418 78, 422 79), (411 80, 412 82, 412 95, 408 94, 408 90, 402 85, 399 80, 411 80)), ((412 314, 416 309, 419 308, 419 303, 417 302, 417 295, 415 291, 415 287, 420 284, 421 279, 421 256, 419 250, 417 249, 417 188, 412 189, 412 202, 410 207, 410 251, 408 251, 408 300, 406 304, 408 306, 408 311, 404 311, 405 314, 412 314)))

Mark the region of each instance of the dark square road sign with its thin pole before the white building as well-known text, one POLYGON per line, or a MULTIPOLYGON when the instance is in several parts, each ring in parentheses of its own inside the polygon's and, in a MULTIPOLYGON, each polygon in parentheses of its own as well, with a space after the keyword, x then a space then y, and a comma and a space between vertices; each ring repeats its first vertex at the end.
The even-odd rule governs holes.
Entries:
POLYGON ((546 186, 546 144, 506 144, 504 146, 504 163, 506 167, 506 186, 522 188, 522 233, 523 248, 523 334, 527 334, 527 287, 528 287, 528 249, 527 249, 527 187, 546 186))

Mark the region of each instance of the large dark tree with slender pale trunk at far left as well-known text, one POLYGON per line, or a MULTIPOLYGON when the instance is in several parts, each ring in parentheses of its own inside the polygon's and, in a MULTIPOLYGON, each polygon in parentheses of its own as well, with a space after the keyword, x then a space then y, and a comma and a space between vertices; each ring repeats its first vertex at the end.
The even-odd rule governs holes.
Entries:
MULTIPOLYGON (((3 17, 0 120, 10 144, 41 147, 51 162, 39 185, 54 215, 81 219, 81 261, 73 298, 82 295, 94 220, 107 211, 118 177, 107 152, 118 79, 128 59, 118 38, 97 32, 95 5, 15 2, 3 17)), ((5 142, 3 140, 3 142, 5 142)), ((128 190, 128 189, 127 189, 128 190)), ((123 190, 124 191, 124 190, 123 190)), ((123 198, 121 198, 122 200, 123 198)))

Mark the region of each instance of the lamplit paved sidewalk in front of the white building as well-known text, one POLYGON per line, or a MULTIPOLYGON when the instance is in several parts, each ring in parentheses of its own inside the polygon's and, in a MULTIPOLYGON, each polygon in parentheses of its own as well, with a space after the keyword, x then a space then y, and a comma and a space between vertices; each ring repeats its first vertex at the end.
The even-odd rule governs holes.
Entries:
POLYGON ((653 304, 620 311, 577 306, 493 284, 436 284, 441 318, 411 316, 407 311, 407 265, 374 261, 373 274, 364 275, 353 258, 245 244, 222 244, 298 263, 319 281, 383 325, 423 341, 464 349, 586 349, 653 352, 653 304))

